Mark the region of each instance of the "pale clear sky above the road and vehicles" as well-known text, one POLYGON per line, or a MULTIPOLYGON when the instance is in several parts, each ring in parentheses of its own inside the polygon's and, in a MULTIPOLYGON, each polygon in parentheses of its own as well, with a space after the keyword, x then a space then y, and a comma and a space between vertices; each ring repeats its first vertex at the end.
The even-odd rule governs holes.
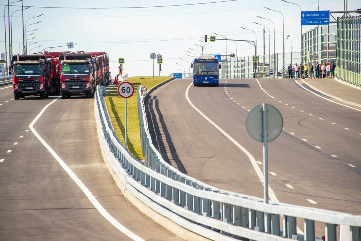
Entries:
MULTIPOLYGON (((15 1, 15 0, 12 0, 15 1)), ((10 3, 12 2, 10 0, 10 3)), ((263 26, 253 22, 267 25, 271 30, 271 52, 273 52, 273 24, 257 16, 269 18, 275 23, 275 51, 282 52, 282 16, 280 13, 265 9, 265 7, 278 10, 284 16, 284 35, 290 35, 293 51, 300 51, 300 9, 294 4, 281 0, 234 0, 221 3, 211 3, 222 0, 23 0, 24 6, 32 6, 24 10, 24 23, 27 22, 28 34, 34 33, 28 40, 28 50, 43 51, 53 46, 66 45, 68 42, 76 44, 71 51, 84 50, 86 52, 109 53, 110 71, 113 77, 117 74, 118 57, 125 58, 123 74, 129 76, 152 76, 152 60, 149 55, 154 52, 163 56, 161 76, 171 73, 183 73, 183 66, 188 72, 188 63, 192 57, 199 55, 201 47, 205 47, 204 54, 226 53, 226 41, 216 40, 215 43, 201 43, 204 35, 212 33, 225 35, 229 39, 255 40, 257 35, 257 53, 263 52, 263 26), (204 4, 200 4, 204 3, 204 4), (207 4, 208 3, 208 4, 207 4), (195 4, 195 5, 183 5, 195 4), (157 7, 164 5, 183 5, 171 7, 157 7), (45 7, 45 8, 39 8, 45 7), (65 8, 47 8, 65 7, 65 8), (74 8, 108 8, 108 9, 66 9, 74 8), (147 7, 147 8, 139 8, 147 7), (33 24, 41 21, 38 24, 33 24), (31 31, 38 29, 36 31, 31 31), (36 44, 33 44, 38 42, 36 44), (42 46, 42 47, 38 47, 42 46), (197 51, 190 50, 192 48, 197 51), (192 53, 188 53, 192 52, 192 53), (193 54, 194 53, 194 54, 193 54), (180 60, 182 58, 184 60, 180 60), (185 61, 187 60, 187 61, 185 61), (177 65, 178 63, 180 65, 177 65), (181 66, 183 65, 183 66, 181 66), (180 71, 181 69, 182 71, 180 71)), ((299 4, 303 11, 330 10, 343 11, 344 0, 290 0, 299 4)), ((4 38, 4 8, 7 0, 0 0, 0 52, 5 52, 4 38)), ((21 6, 20 3, 12 5, 21 6)), ((25 8, 25 7, 24 7, 25 8)), ((361 8, 360 0, 348 0, 348 10, 361 8)), ((10 7, 10 15, 21 7, 10 7)), ((6 29, 7 22, 6 7, 6 29)), ((335 16, 340 16, 339 14, 335 16)), ((303 26, 303 32, 315 26, 303 26)), ((22 37, 21 11, 15 12, 12 17, 13 52, 19 52, 19 40, 22 37)), ((268 53, 268 29, 266 28, 266 54, 268 53)), ((8 30, 6 30, 8 39, 8 30)), ((217 38, 223 38, 217 36, 217 38)), ((22 40, 21 40, 22 42, 22 40)), ((7 43, 8 44, 8 43, 7 43)), ((228 41, 228 53, 236 53, 236 44, 228 41)), ((9 45, 8 45, 9 46, 9 45)), ((291 51, 291 42, 286 41, 286 52, 291 51)), ((69 51, 67 47, 53 48, 51 51, 69 51)), ((253 55, 254 48, 248 43, 237 43, 238 56, 253 55)), ((155 64, 155 76, 159 75, 158 65, 155 64)), ((191 69, 192 71, 192 69, 191 69)))

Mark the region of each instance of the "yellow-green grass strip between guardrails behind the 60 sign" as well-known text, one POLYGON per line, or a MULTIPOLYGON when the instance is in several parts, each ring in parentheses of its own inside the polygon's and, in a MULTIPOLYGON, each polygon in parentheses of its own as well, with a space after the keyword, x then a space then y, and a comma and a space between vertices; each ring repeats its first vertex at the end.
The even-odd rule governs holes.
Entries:
MULTIPOLYGON (((139 136, 139 120, 137 107, 137 91, 140 85, 147 86, 150 90, 153 86, 161 83, 170 77, 131 77, 126 81, 134 85, 134 95, 127 99, 127 147, 135 158, 144 160, 139 136)), ((120 97, 114 86, 109 90, 105 98, 109 117, 119 140, 125 144, 125 99, 120 97)))

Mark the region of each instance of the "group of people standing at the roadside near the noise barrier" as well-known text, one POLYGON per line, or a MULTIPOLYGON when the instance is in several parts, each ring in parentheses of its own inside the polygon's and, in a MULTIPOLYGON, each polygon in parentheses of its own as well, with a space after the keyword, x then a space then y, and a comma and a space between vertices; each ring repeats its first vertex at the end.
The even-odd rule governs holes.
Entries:
POLYGON ((316 62, 316 66, 313 66, 312 63, 300 65, 292 64, 288 65, 288 78, 308 78, 308 79, 316 79, 316 78, 330 78, 330 76, 335 77, 335 68, 336 64, 334 61, 330 63, 323 62, 322 65, 316 62), (315 76, 316 74, 316 76, 315 76))

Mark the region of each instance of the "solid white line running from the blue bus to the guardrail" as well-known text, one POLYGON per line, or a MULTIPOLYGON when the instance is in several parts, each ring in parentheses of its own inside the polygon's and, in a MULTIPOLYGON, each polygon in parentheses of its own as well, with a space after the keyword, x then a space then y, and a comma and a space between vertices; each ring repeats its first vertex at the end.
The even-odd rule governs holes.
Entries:
MULTIPOLYGON (((264 186, 264 176, 263 173, 260 169, 260 167, 257 165, 255 158, 252 156, 252 154, 247 151, 247 149, 245 149, 240 143, 238 143, 234 138, 232 138, 229 134, 227 134, 222 128, 220 128, 216 123, 214 123, 211 119, 209 119, 206 115, 204 115, 203 112, 201 112, 189 99, 188 96, 188 92, 190 87, 192 86, 192 83, 188 86, 187 90, 186 90, 186 99, 188 101, 188 103, 193 107, 193 109, 195 109, 201 116, 203 116, 204 119, 206 119, 210 124, 212 124, 215 128, 217 128, 223 135, 225 135, 234 145, 236 145, 240 150, 242 150, 244 152, 244 154, 246 154, 248 156, 248 159, 251 161, 251 164, 253 166, 253 168, 256 171, 256 174, 258 176, 258 178, 260 178, 262 185, 264 186)), ((268 185, 268 195, 269 198, 273 201, 273 202, 279 202, 278 198, 276 197, 276 195, 274 194, 273 189, 268 185)))

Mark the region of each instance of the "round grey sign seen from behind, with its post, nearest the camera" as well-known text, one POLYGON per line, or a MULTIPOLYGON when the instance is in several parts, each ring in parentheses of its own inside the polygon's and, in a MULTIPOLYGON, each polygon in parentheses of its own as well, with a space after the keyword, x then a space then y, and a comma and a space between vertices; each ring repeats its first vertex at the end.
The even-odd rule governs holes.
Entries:
POLYGON ((260 104, 248 112, 246 129, 258 142, 263 142, 264 198, 268 203, 268 142, 276 139, 282 132, 283 120, 278 109, 269 104, 260 104))

